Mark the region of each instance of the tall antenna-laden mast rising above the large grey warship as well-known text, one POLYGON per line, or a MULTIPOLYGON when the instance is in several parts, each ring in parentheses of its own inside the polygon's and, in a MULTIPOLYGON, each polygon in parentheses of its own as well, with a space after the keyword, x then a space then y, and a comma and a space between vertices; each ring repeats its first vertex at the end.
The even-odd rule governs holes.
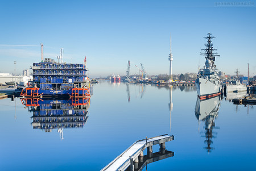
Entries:
POLYGON ((212 34, 208 33, 207 37, 204 37, 204 39, 207 39, 207 44, 205 45, 205 49, 201 49, 201 51, 205 51, 205 53, 200 53, 200 55, 203 55, 205 57, 205 59, 209 59, 212 63, 212 66, 216 67, 216 65, 214 65, 214 61, 215 61, 215 57, 219 57, 220 55, 218 55, 218 53, 213 53, 213 51, 216 51, 217 49, 213 48, 213 43, 210 39, 215 38, 214 36, 212 36, 212 34))

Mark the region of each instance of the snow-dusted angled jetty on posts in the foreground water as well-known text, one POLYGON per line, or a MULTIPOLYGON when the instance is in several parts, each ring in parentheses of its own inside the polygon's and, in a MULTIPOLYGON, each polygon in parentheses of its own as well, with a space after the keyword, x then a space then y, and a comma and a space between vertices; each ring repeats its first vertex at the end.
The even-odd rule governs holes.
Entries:
MULTIPOLYGON (((166 153, 166 142, 174 140, 174 135, 160 135, 150 139, 138 140, 131 145, 126 151, 121 153, 117 158, 101 169, 105 170, 125 170, 130 166, 130 170, 138 169, 139 161, 143 162, 143 151, 147 148, 147 156, 152 158, 152 145, 160 145, 160 153, 166 153)), ((172 155, 173 156, 173 155, 172 155)))

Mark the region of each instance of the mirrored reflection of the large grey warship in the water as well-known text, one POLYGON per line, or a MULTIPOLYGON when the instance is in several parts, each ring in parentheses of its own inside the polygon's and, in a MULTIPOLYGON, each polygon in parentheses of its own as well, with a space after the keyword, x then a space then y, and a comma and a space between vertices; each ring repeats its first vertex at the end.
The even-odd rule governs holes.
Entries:
POLYGON ((221 97, 217 96, 214 98, 206 99, 203 101, 200 101, 200 99, 197 97, 196 101, 196 118, 200 121, 204 122, 204 131, 200 132, 202 137, 205 137, 205 143, 207 144, 207 147, 204 147, 204 149, 207 150, 207 152, 212 152, 214 149, 211 147, 213 141, 212 139, 215 138, 217 132, 213 132, 213 129, 219 129, 218 127, 215 126, 215 119, 218 116, 218 110, 220 108, 220 101, 221 97))

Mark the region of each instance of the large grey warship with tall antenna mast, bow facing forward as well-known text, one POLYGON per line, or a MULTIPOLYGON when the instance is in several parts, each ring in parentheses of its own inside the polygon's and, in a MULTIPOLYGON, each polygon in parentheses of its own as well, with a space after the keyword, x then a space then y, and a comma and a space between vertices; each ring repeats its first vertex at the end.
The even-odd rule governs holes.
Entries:
POLYGON ((196 79, 196 90, 200 99, 212 98, 221 94, 221 81, 214 64, 215 57, 220 55, 213 53, 213 51, 216 51, 211 40, 214 36, 208 33, 207 37, 204 38, 207 39, 207 44, 205 44, 205 49, 201 49, 204 53, 200 54, 205 57, 206 61, 204 68, 199 70, 196 79))

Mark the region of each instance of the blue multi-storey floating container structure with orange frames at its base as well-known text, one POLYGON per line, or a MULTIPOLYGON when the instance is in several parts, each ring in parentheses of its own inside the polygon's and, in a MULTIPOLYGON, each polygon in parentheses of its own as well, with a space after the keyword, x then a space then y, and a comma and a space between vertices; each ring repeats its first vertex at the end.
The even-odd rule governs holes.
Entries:
POLYGON ((90 97, 89 77, 86 76, 88 69, 85 64, 61 64, 46 59, 44 62, 33 63, 31 69, 33 81, 28 83, 28 88, 22 91, 21 96, 73 97, 82 95, 90 97), (34 94, 35 89, 38 89, 37 94, 34 94), (75 91, 78 93, 73 94, 75 91))

